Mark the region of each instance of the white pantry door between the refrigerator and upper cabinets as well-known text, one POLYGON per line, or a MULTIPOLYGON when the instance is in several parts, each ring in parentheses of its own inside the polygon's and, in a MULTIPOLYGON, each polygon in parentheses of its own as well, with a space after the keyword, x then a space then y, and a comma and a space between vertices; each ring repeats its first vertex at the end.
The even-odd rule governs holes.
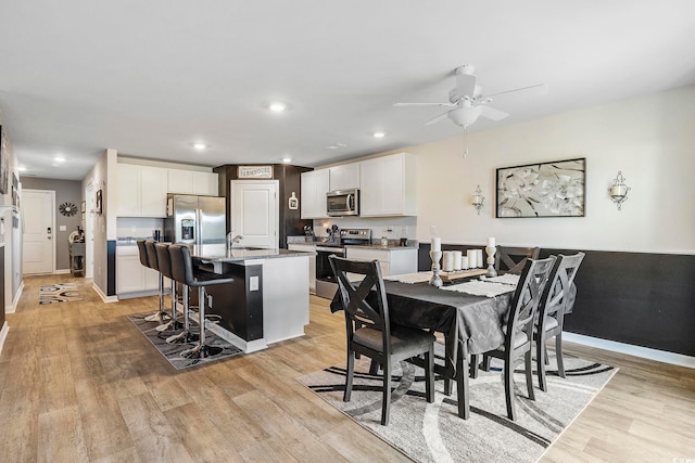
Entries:
POLYGON ((278 247, 278 181, 232 180, 229 201, 231 232, 237 246, 278 247))

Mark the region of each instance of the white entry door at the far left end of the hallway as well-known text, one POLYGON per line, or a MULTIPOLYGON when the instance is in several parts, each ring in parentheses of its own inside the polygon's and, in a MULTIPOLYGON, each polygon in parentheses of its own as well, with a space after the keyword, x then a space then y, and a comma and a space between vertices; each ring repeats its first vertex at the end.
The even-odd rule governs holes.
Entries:
POLYGON ((22 265, 24 273, 52 273, 55 247, 53 236, 53 210, 55 192, 24 190, 22 192, 24 215, 24 244, 22 265))

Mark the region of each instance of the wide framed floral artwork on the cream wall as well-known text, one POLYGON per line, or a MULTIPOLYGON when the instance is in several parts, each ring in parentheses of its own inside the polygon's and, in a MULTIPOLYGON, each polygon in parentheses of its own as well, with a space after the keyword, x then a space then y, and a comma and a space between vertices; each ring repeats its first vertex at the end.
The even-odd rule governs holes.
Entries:
POLYGON ((584 217, 586 158, 497 169, 496 217, 584 217))

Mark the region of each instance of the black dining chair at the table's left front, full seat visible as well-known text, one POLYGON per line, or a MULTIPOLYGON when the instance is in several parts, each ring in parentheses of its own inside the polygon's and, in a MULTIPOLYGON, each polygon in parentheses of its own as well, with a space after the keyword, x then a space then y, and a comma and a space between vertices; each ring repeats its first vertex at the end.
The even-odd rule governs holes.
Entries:
POLYGON ((393 362, 424 355, 427 401, 433 402, 434 335, 424 330, 391 323, 378 260, 348 260, 334 255, 328 259, 338 281, 338 291, 345 312, 348 362, 343 401, 350 401, 355 355, 361 353, 379 363, 383 371, 382 425, 389 424, 393 362), (362 275, 362 281, 355 281, 362 275), (372 290, 376 292, 372 293, 372 290), (376 296, 374 299, 371 294, 376 296))

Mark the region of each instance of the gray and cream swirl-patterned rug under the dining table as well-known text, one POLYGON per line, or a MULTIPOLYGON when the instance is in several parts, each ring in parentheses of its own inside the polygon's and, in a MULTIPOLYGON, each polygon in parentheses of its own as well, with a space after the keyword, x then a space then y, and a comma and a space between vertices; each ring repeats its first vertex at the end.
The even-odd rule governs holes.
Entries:
MULTIPOLYGON (((551 353, 551 352, 549 352, 551 353)), ((552 356, 552 353, 551 353, 552 356)), ((434 403, 425 399, 424 370, 394 365, 391 414, 381 426, 380 376, 369 359, 355 362, 352 399, 343 402, 345 370, 332 366, 299 378, 328 403, 417 462, 535 462, 617 372, 612 366, 565 356, 566 378, 555 358, 547 369, 548 391, 527 398, 522 370, 515 372, 517 420, 507 419, 501 363, 470 380, 470 419, 457 415, 456 385, 450 397, 435 383, 434 403)), ((534 376, 534 384, 538 378, 534 376)))

